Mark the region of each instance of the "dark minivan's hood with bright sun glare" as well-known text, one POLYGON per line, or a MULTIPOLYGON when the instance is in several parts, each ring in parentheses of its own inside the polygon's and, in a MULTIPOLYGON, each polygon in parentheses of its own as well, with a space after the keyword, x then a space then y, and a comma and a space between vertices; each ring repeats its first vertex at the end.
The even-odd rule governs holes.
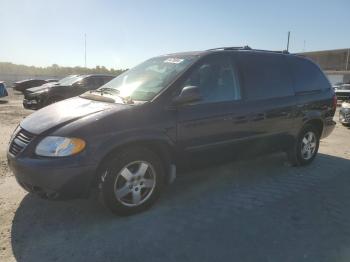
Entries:
POLYGON ((73 122, 87 115, 110 109, 124 109, 122 104, 104 103, 80 97, 63 100, 44 107, 26 117, 21 127, 33 134, 41 134, 56 126, 73 122))

